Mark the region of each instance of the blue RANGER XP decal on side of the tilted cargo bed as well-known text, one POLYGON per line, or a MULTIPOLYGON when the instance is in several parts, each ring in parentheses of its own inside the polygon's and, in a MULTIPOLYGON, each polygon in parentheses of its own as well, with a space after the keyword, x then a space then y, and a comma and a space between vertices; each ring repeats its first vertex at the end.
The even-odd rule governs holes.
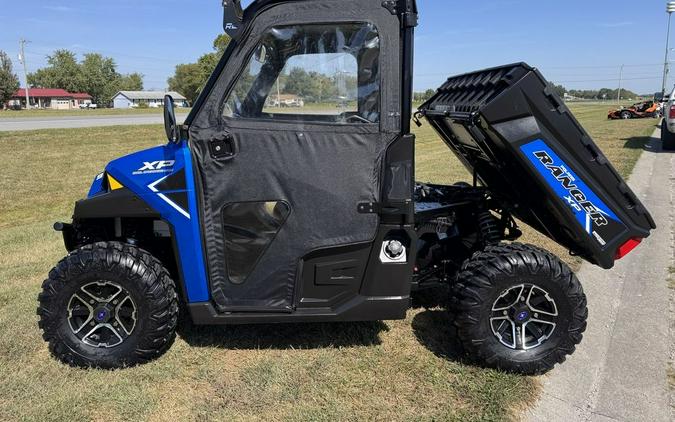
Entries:
POLYGON ((520 150, 600 246, 625 232, 619 217, 544 141, 530 142, 520 150))

